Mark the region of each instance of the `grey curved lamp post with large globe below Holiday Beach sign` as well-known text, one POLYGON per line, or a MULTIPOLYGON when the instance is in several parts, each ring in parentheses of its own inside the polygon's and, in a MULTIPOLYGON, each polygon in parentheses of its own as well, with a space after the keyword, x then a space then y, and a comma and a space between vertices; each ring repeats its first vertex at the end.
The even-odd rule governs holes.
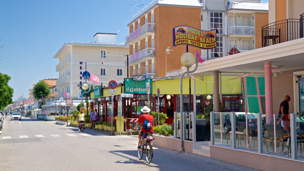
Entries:
MULTIPOLYGON (((182 73, 181 74, 181 94, 180 94, 180 97, 181 97, 181 111, 180 111, 180 122, 181 122, 181 148, 178 149, 179 152, 183 152, 185 151, 184 149, 184 127, 183 127, 183 124, 184 124, 184 115, 183 115, 183 77, 185 74, 188 74, 188 73, 193 73, 196 71, 197 69, 197 57, 195 57, 192 53, 184 53, 181 55, 181 64, 184 65, 186 68, 187 68, 187 71, 182 73), (192 70, 192 71, 189 71, 189 68, 195 64, 195 68, 192 70)), ((189 85, 190 86, 190 85, 189 85)), ((191 97, 190 97, 191 99, 191 97)))

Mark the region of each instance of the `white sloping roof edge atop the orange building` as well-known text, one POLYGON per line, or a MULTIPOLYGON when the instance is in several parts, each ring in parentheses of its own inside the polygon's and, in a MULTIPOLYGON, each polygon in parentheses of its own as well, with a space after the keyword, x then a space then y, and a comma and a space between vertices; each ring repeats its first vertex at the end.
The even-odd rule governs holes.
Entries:
POLYGON ((127 25, 130 26, 135 20, 140 18, 143 14, 147 13, 151 9, 155 8, 156 6, 175 6, 175 7, 185 7, 185 8, 203 8, 205 6, 203 3, 199 3, 198 0, 154 0, 145 8, 143 8, 140 12, 135 14, 131 20, 131 22, 127 25))

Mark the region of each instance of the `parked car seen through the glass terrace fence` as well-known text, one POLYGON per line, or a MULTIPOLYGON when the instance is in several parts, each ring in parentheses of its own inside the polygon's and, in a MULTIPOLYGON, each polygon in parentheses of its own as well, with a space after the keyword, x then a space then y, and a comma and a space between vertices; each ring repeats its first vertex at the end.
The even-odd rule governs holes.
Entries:
MULTIPOLYGON (((235 123, 236 123, 236 131, 243 132, 246 135, 246 113, 245 112, 235 112, 235 123)), ((247 123, 248 127, 256 127, 257 126, 257 114, 256 113, 247 113, 247 123), (251 122, 249 122, 251 120, 251 122)), ((230 114, 225 114, 224 118, 224 131, 226 134, 231 131, 231 122, 230 122, 230 114)))

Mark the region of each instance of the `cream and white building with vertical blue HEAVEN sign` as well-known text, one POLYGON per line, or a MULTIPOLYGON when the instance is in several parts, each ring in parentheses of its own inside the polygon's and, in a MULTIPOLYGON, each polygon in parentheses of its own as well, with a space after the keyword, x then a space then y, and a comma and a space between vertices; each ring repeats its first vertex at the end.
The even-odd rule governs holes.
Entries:
POLYGON ((56 71, 59 79, 56 81, 58 95, 55 100, 67 96, 74 100, 81 99, 81 85, 108 86, 108 82, 123 81, 126 77, 124 58, 129 54, 129 45, 116 44, 116 34, 96 33, 94 43, 70 42, 64 44, 53 58, 58 58, 56 71), (96 75, 99 83, 85 80, 83 72, 96 75))

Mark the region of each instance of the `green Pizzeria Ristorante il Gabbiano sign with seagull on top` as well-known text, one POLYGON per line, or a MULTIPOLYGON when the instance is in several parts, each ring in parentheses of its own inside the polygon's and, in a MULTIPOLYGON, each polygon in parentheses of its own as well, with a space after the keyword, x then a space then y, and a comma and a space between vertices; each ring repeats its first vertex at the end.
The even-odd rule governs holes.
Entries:
POLYGON ((133 81, 131 78, 124 79, 125 93, 127 94, 147 94, 147 82, 150 83, 150 93, 152 94, 152 79, 144 81, 133 81))

